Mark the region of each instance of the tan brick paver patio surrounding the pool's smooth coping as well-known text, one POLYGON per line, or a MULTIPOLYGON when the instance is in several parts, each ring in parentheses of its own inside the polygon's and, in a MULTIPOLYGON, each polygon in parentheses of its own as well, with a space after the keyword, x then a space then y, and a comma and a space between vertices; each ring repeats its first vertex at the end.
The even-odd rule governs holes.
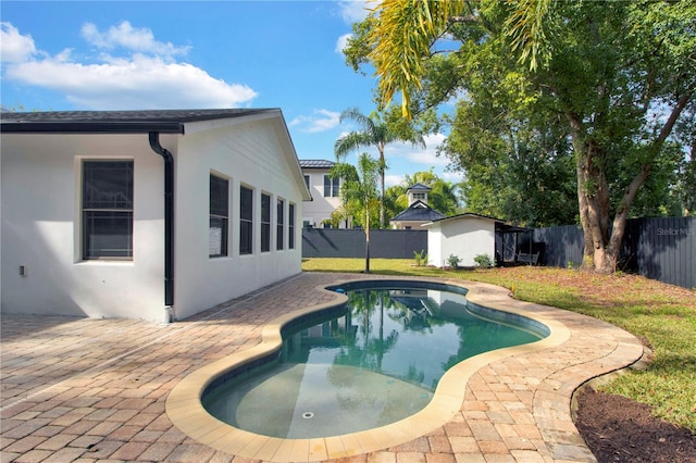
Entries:
MULTIPOLYGON (((0 461, 249 461, 178 430, 165 413, 167 393, 199 367, 258 345, 273 318, 331 301, 320 285, 364 277, 304 273, 170 325, 3 315, 0 461)), ((552 316, 568 327, 569 339, 482 366, 461 386, 460 412, 433 433, 339 460, 595 461, 572 423, 572 393, 586 379, 639 359, 639 341, 583 315, 509 303, 552 316)))

